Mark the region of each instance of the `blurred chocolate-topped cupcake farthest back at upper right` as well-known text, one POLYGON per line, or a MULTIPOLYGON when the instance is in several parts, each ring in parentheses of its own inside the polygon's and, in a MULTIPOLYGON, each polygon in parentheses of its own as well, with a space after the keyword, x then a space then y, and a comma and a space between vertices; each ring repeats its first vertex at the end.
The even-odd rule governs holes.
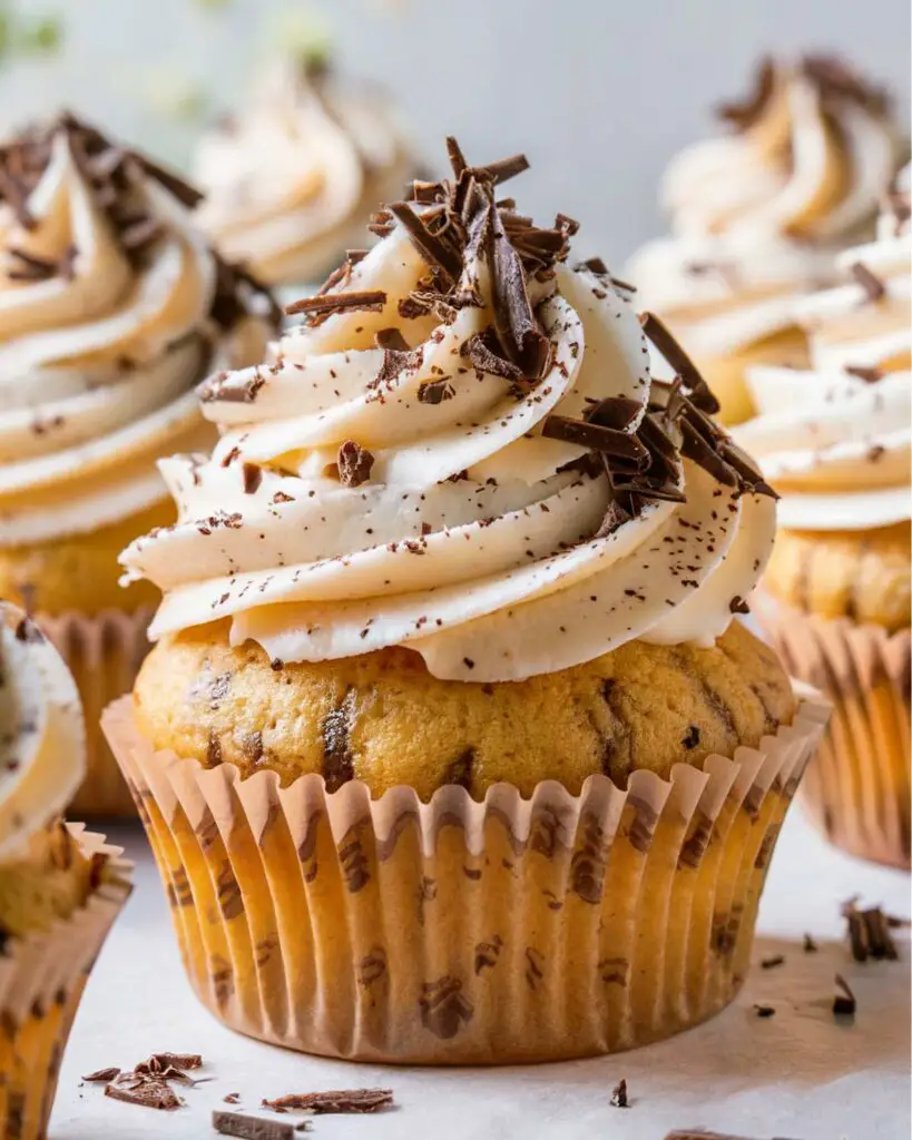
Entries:
POLYGON ((795 302, 873 236, 901 156, 885 95, 838 59, 765 60, 718 111, 730 132, 679 154, 662 184, 673 236, 625 276, 693 353, 723 423, 754 414, 746 372, 807 364, 795 302))

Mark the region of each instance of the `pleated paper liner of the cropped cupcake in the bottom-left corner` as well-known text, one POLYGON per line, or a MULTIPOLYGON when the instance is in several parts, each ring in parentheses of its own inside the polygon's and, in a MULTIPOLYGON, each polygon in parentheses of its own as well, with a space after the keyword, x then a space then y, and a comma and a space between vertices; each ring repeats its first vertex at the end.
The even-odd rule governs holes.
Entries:
POLYGON ((129 897, 120 847, 72 824, 83 855, 104 860, 85 905, 0 953, 0 1137, 44 1140, 57 1075, 85 980, 129 897))

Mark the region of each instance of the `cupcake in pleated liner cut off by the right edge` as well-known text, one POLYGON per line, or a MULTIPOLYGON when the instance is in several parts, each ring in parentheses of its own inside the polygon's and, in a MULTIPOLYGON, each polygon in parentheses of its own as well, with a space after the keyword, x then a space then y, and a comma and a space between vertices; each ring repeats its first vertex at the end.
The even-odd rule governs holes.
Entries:
POLYGON ((805 784, 821 830, 855 855, 910 866, 909 168, 846 283, 797 317, 813 368, 764 368, 739 429, 784 495, 760 616, 791 671, 826 690, 830 732, 805 784))

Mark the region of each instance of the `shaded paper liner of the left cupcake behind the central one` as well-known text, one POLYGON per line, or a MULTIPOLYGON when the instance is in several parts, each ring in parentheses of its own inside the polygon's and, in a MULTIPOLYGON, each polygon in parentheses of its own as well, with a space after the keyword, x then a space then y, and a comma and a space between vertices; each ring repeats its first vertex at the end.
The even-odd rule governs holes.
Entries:
POLYGON ((76 817, 135 817, 136 807, 101 732, 101 712, 130 692, 149 651, 146 629, 153 610, 105 610, 95 618, 67 612, 35 620, 59 650, 75 677, 85 711, 85 780, 70 806, 76 817))

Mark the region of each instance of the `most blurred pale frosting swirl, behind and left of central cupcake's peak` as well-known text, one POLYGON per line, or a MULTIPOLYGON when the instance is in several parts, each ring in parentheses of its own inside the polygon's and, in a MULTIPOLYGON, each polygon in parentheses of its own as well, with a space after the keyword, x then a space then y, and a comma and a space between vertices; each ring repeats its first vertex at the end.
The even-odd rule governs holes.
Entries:
POLYGON ((199 222, 262 280, 319 280, 413 172, 383 92, 277 62, 250 107, 199 144, 199 222))

